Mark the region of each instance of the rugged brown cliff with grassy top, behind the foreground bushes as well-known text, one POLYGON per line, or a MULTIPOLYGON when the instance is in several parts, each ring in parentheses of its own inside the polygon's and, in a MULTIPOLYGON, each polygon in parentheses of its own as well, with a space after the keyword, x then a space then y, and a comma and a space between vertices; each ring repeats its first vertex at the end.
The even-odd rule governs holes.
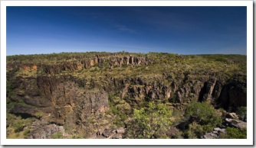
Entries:
POLYGON ((242 69, 244 65, 238 62, 223 64, 214 59, 207 65, 197 62, 197 58, 207 57, 167 53, 77 55, 42 61, 37 61, 39 56, 29 61, 10 57, 8 111, 64 126, 70 134, 91 137, 100 129, 111 128, 117 120, 117 114, 110 111, 114 98, 131 108, 143 108, 146 101, 161 101, 181 111, 193 100, 209 101, 215 108, 226 110, 247 103, 246 67, 242 69))

